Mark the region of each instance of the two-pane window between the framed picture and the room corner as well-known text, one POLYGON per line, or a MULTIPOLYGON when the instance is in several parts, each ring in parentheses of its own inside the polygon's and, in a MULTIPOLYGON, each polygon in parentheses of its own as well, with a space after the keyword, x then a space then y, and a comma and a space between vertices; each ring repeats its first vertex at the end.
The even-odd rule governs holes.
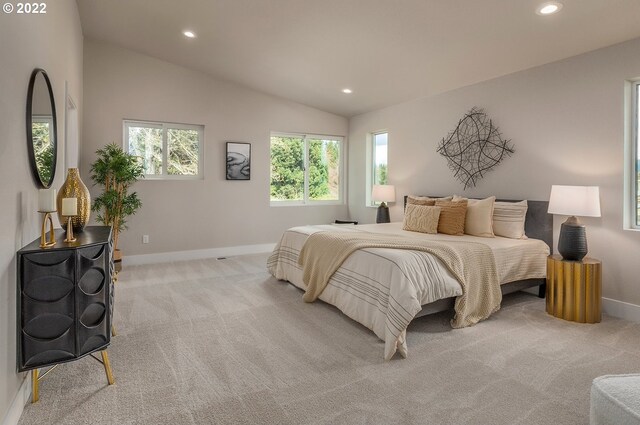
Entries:
POLYGON ((271 204, 342 203, 342 137, 271 134, 271 204))

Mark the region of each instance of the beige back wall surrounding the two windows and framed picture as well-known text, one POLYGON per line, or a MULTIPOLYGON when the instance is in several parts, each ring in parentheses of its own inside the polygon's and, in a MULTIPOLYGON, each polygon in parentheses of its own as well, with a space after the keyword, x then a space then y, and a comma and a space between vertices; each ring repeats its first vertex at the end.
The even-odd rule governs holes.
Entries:
POLYGON ((205 126, 204 180, 134 186, 143 206, 120 239, 125 256, 273 243, 288 227, 347 216, 346 204, 269 206, 270 132, 346 136, 346 118, 112 45, 84 46, 81 168, 92 195, 89 164, 98 148, 122 143, 123 119, 205 126), (226 141, 252 144, 250 181, 225 180, 226 141), (143 234, 149 244, 142 244, 143 234))

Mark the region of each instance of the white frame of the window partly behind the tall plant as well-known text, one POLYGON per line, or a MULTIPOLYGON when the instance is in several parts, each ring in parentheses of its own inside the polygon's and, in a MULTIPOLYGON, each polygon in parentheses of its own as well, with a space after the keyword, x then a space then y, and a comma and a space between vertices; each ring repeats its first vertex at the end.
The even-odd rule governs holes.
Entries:
POLYGON ((129 127, 162 129, 162 174, 144 174, 143 180, 203 180, 204 179, 204 125, 160 121, 122 120, 122 145, 129 152, 129 127), (133 125, 132 125, 133 124, 133 125), (192 130, 198 133, 198 173, 175 175, 168 173, 169 130, 192 130))

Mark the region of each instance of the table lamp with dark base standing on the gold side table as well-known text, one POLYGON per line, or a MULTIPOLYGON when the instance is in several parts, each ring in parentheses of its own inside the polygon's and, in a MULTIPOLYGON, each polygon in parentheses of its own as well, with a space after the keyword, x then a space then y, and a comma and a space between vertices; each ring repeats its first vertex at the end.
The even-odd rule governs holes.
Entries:
POLYGON ((587 233, 576 216, 600 217, 598 186, 551 186, 549 214, 571 216, 562 223, 558 252, 568 261, 581 261, 587 255, 587 233))

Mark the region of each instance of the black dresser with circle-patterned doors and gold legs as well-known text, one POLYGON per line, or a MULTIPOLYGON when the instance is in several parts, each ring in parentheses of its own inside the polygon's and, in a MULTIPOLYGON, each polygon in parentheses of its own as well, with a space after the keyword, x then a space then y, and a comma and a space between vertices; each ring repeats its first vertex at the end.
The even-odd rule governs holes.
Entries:
POLYGON ((37 368, 105 350, 111 341, 111 227, 88 226, 75 236, 65 243, 59 229, 55 246, 40 248, 38 238, 18 251, 17 363, 34 377, 37 368))

